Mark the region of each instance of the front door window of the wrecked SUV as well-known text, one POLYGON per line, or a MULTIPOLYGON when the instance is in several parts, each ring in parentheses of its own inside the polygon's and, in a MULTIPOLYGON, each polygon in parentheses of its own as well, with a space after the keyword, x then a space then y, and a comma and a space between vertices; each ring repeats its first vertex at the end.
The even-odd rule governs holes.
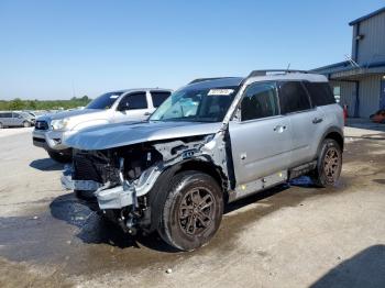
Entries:
POLYGON ((252 84, 241 103, 242 121, 279 114, 275 84, 252 84))

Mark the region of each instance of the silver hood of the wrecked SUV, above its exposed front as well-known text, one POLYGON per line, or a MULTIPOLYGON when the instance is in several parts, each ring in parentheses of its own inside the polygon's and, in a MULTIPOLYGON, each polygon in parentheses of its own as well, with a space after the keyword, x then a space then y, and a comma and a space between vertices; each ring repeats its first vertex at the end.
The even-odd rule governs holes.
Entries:
POLYGON ((107 149, 143 142, 213 134, 221 126, 221 122, 141 122, 103 125, 80 131, 68 137, 65 144, 78 149, 107 149))

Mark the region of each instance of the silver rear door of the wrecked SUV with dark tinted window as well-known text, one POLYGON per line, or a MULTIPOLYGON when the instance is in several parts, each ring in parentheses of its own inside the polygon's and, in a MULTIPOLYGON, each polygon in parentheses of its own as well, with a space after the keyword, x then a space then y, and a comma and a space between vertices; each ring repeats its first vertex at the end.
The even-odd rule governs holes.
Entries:
POLYGON ((324 131, 324 113, 322 109, 312 107, 301 81, 282 81, 278 90, 280 111, 289 118, 292 124, 290 167, 295 167, 315 158, 319 134, 324 131))

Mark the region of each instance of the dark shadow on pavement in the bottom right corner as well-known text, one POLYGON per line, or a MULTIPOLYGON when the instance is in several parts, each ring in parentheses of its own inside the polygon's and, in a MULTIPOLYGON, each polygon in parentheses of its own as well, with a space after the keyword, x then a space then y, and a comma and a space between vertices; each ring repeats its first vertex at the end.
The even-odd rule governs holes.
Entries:
POLYGON ((311 288, 385 287, 385 245, 371 246, 332 268, 311 288))

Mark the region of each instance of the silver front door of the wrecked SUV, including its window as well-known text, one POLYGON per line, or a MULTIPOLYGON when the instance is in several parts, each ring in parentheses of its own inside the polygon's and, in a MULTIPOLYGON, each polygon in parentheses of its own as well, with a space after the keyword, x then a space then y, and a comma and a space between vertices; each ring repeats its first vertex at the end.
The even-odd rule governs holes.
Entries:
POLYGON ((275 82, 254 82, 244 91, 241 120, 229 123, 237 185, 287 168, 290 123, 280 115, 275 82))

